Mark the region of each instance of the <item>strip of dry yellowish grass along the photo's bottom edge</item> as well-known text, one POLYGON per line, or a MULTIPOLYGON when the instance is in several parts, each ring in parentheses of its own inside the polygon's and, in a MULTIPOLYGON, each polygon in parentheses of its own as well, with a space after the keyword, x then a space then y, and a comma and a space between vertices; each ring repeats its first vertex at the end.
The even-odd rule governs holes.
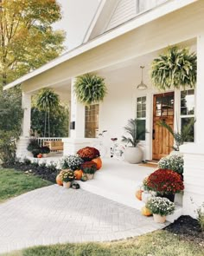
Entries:
POLYGON ((167 231, 112 243, 35 246, 9 256, 203 256, 204 248, 167 231))

